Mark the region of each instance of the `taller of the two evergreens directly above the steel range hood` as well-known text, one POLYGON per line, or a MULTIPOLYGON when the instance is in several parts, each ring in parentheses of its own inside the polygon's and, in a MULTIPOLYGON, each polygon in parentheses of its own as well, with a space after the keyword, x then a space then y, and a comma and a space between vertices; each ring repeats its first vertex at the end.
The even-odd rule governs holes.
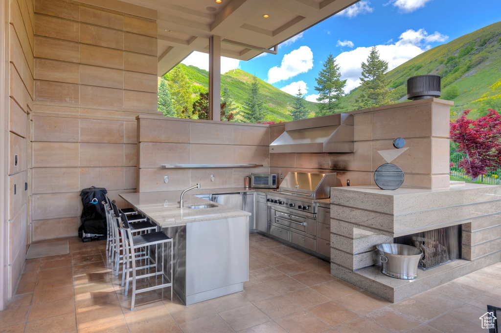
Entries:
POLYGON ((327 60, 324 62, 324 68, 319 71, 318 77, 315 80, 318 84, 315 87, 319 95, 317 101, 321 102, 316 115, 334 113, 340 104, 341 97, 344 95, 346 80, 341 79, 339 65, 336 63, 332 53, 327 57, 327 60))

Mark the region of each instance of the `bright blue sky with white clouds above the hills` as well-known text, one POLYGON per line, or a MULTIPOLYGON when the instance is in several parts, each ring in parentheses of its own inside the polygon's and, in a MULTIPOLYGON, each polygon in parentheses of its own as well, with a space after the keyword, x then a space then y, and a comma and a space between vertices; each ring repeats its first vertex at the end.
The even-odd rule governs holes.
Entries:
MULTIPOLYGON (((277 55, 264 53, 249 61, 223 58, 221 71, 238 67, 291 94, 301 86, 307 99, 315 101, 315 78, 329 53, 347 79, 348 92, 358 86, 360 64, 374 45, 392 69, 500 20, 501 0, 362 0, 279 45, 277 55)), ((183 63, 207 67, 208 56, 196 53, 183 63)))

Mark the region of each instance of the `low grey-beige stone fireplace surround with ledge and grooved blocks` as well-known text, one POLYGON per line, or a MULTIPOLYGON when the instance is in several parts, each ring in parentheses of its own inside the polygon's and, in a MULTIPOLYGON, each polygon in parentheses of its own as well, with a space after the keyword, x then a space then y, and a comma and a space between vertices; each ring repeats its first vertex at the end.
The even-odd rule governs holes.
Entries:
POLYGON ((450 189, 376 186, 331 188, 331 273, 390 301, 499 261, 501 186, 465 184, 450 189), (414 280, 380 272, 376 245, 393 237, 462 224, 462 258, 414 280))

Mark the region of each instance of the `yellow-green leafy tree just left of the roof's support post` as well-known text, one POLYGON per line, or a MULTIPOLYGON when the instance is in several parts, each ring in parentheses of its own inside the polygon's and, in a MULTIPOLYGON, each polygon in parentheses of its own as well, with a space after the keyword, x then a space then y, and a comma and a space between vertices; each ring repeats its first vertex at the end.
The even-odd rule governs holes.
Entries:
POLYGON ((173 101, 176 115, 181 118, 193 117, 193 97, 191 82, 188 80, 186 73, 175 66, 167 75, 170 93, 173 101))

